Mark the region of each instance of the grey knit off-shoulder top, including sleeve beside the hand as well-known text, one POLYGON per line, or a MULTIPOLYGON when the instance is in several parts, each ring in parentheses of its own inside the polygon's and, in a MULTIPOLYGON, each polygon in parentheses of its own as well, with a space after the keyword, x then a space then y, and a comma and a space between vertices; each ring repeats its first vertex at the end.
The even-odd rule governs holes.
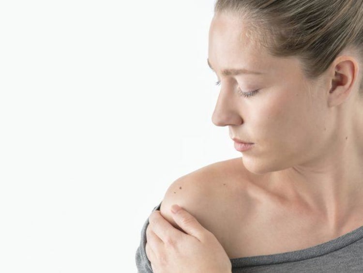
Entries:
MULTIPOLYGON (((152 211, 160 210, 161 203, 152 211)), ((141 242, 136 250, 138 273, 152 273, 146 256, 146 228, 149 218, 141 230, 141 242)), ((232 273, 353 273, 363 272, 363 226, 332 241, 302 250, 230 259, 232 273)))

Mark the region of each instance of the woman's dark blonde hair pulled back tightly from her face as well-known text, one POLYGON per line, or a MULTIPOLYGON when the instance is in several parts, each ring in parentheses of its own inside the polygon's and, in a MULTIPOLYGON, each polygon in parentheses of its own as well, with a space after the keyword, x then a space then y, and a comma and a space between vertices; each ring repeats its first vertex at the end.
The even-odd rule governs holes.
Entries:
POLYGON ((272 56, 299 57, 310 79, 322 75, 347 47, 362 63, 363 0, 217 0, 214 13, 246 19, 272 56))

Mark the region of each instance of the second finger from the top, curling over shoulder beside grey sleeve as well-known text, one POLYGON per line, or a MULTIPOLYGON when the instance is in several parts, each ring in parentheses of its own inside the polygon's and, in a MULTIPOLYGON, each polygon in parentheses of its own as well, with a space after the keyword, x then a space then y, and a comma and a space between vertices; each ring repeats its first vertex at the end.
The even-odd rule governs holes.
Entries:
POLYGON ((185 235, 179 229, 173 227, 161 214, 160 211, 154 211, 149 217, 149 223, 152 231, 164 243, 170 242, 171 238, 178 238, 185 235))

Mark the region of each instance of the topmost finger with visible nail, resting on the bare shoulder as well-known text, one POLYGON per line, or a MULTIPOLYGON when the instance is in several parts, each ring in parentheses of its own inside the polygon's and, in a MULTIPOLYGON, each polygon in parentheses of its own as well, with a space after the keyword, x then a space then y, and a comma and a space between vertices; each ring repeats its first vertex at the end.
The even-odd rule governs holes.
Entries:
POLYGON ((200 225, 197 219, 178 205, 172 205, 171 212, 175 223, 177 223, 187 234, 196 237, 200 241, 201 234, 205 231, 205 228, 200 225))

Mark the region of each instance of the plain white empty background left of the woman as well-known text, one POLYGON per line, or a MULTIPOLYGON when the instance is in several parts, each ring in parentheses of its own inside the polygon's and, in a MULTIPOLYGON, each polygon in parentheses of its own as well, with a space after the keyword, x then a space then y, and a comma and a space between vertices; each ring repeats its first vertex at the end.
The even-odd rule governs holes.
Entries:
POLYGON ((168 186, 241 156, 211 120, 213 4, 0 2, 1 273, 136 273, 168 186))

